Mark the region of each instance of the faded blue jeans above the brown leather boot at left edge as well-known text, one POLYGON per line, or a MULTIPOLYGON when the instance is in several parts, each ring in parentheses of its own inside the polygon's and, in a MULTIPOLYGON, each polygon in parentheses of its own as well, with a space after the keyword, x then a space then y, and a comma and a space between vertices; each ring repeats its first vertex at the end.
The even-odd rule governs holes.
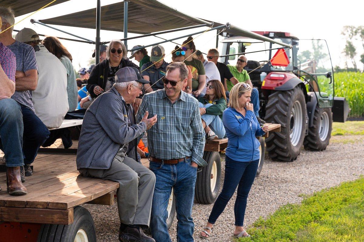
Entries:
POLYGON ((0 148, 4 151, 6 166, 24 166, 23 115, 14 99, 0 100, 0 148))

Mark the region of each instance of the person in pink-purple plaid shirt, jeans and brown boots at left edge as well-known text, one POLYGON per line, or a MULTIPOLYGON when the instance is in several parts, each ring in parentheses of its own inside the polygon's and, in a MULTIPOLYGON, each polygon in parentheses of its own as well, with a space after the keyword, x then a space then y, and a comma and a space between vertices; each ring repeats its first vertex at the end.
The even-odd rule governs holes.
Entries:
POLYGON ((27 189, 20 179, 20 166, 24 165, 23 115, 19 103, 11 99, 15 92, 15 70, 14 53, 0 42, 0 148, 6 159, 9 194, 24 195, 27 189))

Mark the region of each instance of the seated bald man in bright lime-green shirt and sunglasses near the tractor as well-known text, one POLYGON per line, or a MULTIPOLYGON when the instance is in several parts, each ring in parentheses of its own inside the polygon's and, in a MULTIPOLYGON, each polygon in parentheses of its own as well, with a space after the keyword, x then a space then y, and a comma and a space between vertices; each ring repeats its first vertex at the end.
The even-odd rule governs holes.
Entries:
MULTIPOLYGON (((250 80, 249 74, 246 70, 244 70, 244 67, 246 66, 247 63, 248 63, 248 59, 246 59, 246 56, 241 55, 238 57, 236 66, 232 66, 232 65, 228 64, 227 67, 229 68, 229 70, 233 74, 233 76, 236 79, 238 79, 239 82, 246 82, 250 85, 250 87, 253 88, 253 83, 250 80)), ((227 90, 230 91, 233 88, 234 84, 232 82, 230 82, 229 80, 226 80, 226 86, 227 86, 227 90)), ((259 104, 259 93, 258 93, 257 88, 252 89, 251 102, 253 103, 254 113, 257 116, 259 123, 261 125, 264 124, 265 121, 263 119, 259 118, 259 105, 260 104, 259 104)))

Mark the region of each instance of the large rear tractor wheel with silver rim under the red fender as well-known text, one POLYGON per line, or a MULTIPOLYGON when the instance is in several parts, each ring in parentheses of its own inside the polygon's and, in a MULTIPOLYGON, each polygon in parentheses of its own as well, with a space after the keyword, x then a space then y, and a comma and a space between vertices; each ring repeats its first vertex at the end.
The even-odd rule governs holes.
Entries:
POLYGON ((305 96, 299 86, 269 95, 265 120, 281 124, 281 132, 272 132, 266 138, 267 151, 273 160, 297 159, 305 138, 306 112, 305 96))

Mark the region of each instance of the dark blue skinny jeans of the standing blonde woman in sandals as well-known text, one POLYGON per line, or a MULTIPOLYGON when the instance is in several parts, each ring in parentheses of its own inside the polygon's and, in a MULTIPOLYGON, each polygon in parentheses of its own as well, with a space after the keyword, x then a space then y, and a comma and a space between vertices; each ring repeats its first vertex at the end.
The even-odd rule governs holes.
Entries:
POLYGON ((238 187, 234 206, 235 226, 244 225, 246 201, 257 174, 258 164, 259 160, 240 162, 232 160, 228 156, 225 157, 224 185, 212 208, 209 223, 214 224, 216 222, 227 202, 232 198, 236 187, 238 187))

